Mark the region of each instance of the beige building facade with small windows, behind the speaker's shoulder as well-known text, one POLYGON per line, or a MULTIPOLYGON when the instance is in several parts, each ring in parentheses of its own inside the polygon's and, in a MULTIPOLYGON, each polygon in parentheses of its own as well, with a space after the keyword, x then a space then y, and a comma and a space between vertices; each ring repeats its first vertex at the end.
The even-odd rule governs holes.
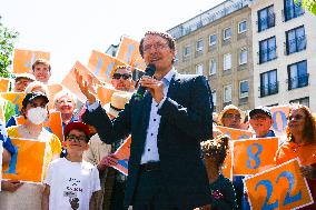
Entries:
POLYGON ((227 104, 254 108, 250 1, 225 1, 168 30, 176 38, 176 67, 204 74, 216 111, 227 104))

